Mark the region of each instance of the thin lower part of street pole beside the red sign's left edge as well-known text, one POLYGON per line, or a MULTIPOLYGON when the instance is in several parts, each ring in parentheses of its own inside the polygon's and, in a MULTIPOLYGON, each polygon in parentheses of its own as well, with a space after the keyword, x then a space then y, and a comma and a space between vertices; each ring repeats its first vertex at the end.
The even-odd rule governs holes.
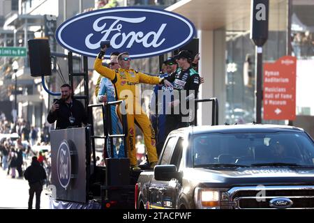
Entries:
POLYGON ((255 47, 255 120, 262 123, 262 47, 255 47))

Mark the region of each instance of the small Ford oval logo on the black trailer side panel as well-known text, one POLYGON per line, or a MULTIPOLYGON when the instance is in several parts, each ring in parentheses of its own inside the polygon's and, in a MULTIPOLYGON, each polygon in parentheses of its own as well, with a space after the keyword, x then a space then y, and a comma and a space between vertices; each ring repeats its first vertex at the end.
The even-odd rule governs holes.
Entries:
POLYGON ((57 155, 57 174, 61 187, 66 189, 71 179, 70 148, 66 140, 62 141, 57 155))

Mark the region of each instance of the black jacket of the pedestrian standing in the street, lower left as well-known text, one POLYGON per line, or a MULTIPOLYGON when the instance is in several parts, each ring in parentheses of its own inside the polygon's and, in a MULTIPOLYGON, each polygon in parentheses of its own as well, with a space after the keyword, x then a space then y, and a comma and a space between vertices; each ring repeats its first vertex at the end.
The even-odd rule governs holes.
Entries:
POLYGON ((38 183, 41 180, 47 178, 45 169, 40 165, 38 161, 31 162, 31 166, 27 167, 24 172, 24 178, 29 180, 29 185, 38 183))

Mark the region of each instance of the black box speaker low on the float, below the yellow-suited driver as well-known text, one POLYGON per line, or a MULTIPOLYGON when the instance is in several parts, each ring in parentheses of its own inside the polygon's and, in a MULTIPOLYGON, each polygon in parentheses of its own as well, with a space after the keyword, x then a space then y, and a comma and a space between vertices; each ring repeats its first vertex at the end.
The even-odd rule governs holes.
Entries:
POLYGON ((106 185, 130 185, 130 160, 128 158, 107 158, 106 161, 106 185))

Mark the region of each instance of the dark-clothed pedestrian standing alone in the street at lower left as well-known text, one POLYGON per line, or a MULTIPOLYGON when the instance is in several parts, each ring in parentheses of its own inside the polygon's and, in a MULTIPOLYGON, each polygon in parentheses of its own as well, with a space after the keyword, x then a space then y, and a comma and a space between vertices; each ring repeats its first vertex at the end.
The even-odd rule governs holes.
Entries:
POLYGON ((31 166, 24 172, 24 178, 29 181, 29 209, 33 208, 33 195, 36 194, 36 209, 40 209, 40 194, 43 191, 43 181, 47 178, 45 169, 36 156, 31 159, 31 166))

